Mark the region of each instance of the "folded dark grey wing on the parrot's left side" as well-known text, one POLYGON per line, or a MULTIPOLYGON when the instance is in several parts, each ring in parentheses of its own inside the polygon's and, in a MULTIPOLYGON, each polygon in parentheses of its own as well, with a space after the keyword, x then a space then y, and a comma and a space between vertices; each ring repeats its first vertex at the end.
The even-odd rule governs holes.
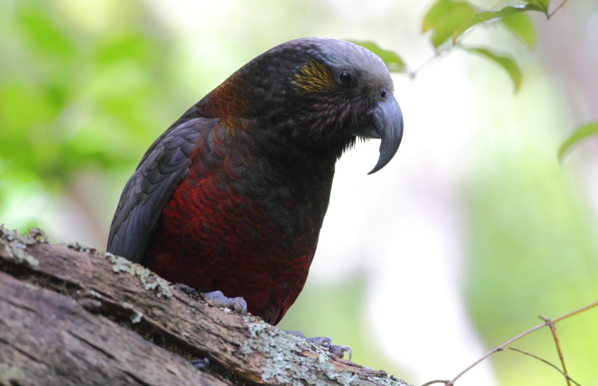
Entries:
POLYGON ((149 147, 129 178, 112 218, 107 251, 139 263, 170 195, 191 164, 205 118, 173 126, 149 147))

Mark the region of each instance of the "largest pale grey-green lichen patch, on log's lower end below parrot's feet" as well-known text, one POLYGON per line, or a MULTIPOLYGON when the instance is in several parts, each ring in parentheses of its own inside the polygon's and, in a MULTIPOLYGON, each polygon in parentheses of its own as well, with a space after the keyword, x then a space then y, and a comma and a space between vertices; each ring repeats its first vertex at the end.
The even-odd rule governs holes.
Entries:
POLYGON ((357 375, 340 371, 332 365, 324 348, 312 345, 304 339, 279 331, 264 322, 248 325, 252 339, 243 342, 241 353, 248 355, 254 351, 265 354, 267 359, 261 368, 264 382, 286 385, 331 384, 350 385, 357 375), (316 351, 317 356, 302 356, 302 351, 316 351))

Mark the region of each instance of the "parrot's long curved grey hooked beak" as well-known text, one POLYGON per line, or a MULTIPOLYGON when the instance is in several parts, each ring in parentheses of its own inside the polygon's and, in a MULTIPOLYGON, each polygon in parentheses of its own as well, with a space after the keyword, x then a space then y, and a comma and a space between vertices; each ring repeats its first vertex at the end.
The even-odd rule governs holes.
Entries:
POLYGON ((380 139, 380 158, 368 174, 375 173, 386 166, 395 156, 403 137, 403 115, 395 97, 390 97, 377 104, 368 112, 372 125, 351 133, 357 137, 380 139))

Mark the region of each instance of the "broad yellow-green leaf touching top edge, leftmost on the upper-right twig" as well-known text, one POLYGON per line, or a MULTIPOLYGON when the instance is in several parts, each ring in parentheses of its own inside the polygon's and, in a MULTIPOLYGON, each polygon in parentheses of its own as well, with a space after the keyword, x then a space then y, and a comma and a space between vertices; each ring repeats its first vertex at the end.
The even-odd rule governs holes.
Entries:
POLYGON ((422 32, 432 31, 432 45, 438 47, 474 14, 474 7, 469 2, 440 0, 432 5, 423 17, 422 32))

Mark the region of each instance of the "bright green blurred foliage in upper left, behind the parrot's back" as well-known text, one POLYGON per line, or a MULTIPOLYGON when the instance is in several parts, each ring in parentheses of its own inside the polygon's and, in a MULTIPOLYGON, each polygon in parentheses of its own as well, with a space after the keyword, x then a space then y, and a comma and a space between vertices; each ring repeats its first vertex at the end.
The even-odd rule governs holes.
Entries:
POLYGON ((107 26, 68 2, 0 3, 0 216, 9 192, 58 193, 87 168, 134 162, 156 137, 168 34, 136 1, 97 5, 107 26))

